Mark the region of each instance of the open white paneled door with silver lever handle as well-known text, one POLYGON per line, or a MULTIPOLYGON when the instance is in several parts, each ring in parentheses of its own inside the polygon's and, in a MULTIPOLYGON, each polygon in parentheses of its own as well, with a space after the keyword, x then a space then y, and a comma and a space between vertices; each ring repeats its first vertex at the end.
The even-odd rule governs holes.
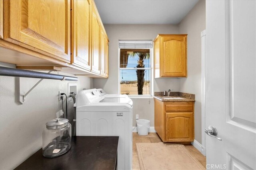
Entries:
POLYGON ((256 169, 256 1, 206 0, 206 168, 256 169))

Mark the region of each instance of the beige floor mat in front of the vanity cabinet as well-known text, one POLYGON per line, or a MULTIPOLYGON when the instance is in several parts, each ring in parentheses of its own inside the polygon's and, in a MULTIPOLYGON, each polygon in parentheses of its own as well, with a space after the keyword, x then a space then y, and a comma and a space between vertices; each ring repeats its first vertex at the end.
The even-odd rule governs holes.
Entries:
POLYGON ((136 143, 141 170, 205 170, 184 145, 136 143))

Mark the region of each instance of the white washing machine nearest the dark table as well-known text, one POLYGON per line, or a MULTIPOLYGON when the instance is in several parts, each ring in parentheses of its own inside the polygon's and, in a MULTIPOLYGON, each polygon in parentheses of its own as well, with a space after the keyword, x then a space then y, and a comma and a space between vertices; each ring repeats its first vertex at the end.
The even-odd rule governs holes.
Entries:
POLYGON ((132 169, 132 100, 104 97, 97 89, 76 95, 77 136, 119 136, 118 170, 132 169))

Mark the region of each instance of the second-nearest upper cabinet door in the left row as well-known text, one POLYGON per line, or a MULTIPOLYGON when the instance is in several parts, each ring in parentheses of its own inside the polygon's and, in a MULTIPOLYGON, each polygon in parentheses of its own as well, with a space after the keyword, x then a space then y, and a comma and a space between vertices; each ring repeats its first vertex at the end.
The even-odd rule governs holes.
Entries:
POLYGON ((90 0, 73 2, 73 52, 71 63, 90 70, 90 0))

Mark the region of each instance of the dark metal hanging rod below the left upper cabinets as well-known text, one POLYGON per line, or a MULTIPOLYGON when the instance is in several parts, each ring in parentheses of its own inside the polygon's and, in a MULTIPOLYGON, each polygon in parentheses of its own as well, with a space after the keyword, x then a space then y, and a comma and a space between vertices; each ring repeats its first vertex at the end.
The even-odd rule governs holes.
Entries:
POLYGON ((77 81, 77 77, 63 76, 58 74, 50 74, 44 72, 22 70, 18 68, 8 68, 0 66, 0 76, 28 77, 28 78, 45 78, 54 80, 77 81))

